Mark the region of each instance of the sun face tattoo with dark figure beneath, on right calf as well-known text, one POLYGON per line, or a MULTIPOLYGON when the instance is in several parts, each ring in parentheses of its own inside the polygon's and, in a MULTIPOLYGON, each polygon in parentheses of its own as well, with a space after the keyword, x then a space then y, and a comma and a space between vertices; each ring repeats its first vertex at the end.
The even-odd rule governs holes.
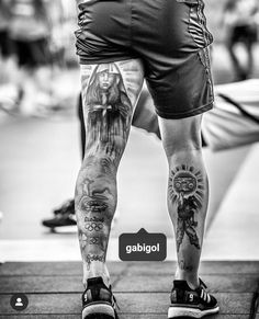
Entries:
POLYGON ((202 208, 204 197, 204 180, 201 171, 193 167, 181 166, 171 171, 169 178, 169 195, 177 205, 177 251, 183 241, 184 235, 190 243, 201 249, 196 235, 198 221, 194 215, 202 208))

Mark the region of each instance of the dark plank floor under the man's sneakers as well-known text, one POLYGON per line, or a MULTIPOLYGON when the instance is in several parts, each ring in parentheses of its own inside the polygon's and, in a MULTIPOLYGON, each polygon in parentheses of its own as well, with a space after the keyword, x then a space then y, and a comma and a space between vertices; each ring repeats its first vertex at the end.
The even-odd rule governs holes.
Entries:
MULTIPOLYGON (((176 264, 176 262, 109 262, 112 290, 120 307, 119 318, 168 318, 176 264)), ((219 305, 219 314, 210 316, 210 319, 258 319, 258 271, 259 262, 255 261, 202 262, 200 275, 209 286, 209 293, 216 297, 219 305)), ((1 264, 0 318, 82 318, 81 276, 80 262, 1 264), (25 307, 27 306, 23 310, 13 303, 18 296, 25 307)))

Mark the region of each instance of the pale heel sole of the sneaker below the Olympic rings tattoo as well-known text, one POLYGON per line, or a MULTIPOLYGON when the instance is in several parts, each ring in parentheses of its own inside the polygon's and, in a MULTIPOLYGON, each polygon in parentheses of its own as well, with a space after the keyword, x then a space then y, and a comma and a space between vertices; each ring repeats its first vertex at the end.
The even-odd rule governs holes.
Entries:
POLYGON ((112 306, 105 304, 89 305, 82 309, 82 319, 114 319, 112 306))

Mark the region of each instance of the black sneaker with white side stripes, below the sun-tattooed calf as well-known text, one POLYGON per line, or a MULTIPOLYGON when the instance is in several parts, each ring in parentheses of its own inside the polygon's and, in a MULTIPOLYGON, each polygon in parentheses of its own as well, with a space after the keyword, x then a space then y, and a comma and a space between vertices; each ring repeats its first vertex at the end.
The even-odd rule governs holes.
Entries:
POLYGON ((206 293, 205 284, 200 280, 200 286, 191 289, 185 281, 173 281, 171 305, 168 318, 202 318, 217 314, 219 307, 215 297, 206 293))

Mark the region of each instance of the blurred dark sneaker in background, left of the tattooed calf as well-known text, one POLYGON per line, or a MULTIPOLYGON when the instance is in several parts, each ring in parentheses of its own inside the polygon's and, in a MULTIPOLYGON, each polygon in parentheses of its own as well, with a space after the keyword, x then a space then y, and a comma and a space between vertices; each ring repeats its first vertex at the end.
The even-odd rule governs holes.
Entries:
POLYGON ((72 228, 75 231, 77 230, 76 225, 76 215, 75 215, 75 202, 68 201, 60 208, 55 209, 54 218, 44 219, 42 225, 45 227, 55 230, 58 227, 58 230, 63 228, 63 230, 67 230, 68 227, 72 228))

